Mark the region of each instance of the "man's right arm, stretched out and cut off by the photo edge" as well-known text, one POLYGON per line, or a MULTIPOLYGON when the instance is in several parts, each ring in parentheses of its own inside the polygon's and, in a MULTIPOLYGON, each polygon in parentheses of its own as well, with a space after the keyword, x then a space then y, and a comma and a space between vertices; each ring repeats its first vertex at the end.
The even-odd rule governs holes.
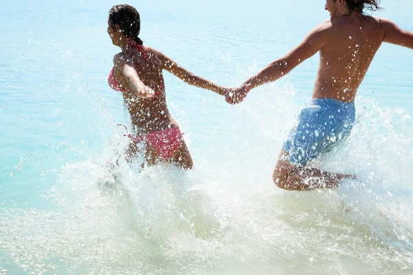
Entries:
POLYGON ((413 49, 413 33, 402 30, 388 19, 380 19, 383 28, 383 41, 413 49))

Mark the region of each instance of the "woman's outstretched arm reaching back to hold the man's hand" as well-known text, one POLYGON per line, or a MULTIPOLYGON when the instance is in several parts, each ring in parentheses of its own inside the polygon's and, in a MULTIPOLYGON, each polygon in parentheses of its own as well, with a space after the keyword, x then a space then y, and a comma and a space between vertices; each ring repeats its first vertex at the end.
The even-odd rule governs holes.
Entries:
POLYGON ((195 76, 195 74, 187 71, 183 67, 180 67, 176 62, 172 61, 169 57, 165 56, 165 54, 160 54, 163 62, 163 69, 167 70, 174 76, 180 78, 184 81, 184 83, 188 83, 189 85, 193 85, 195 87, 200 87, 202 89, 209 89, 211 91, 215 91, 215 93, 220 94, 221 96, 225 96, 228 89, 216 85, 209 80, 206 80, 200 76, 195 76))

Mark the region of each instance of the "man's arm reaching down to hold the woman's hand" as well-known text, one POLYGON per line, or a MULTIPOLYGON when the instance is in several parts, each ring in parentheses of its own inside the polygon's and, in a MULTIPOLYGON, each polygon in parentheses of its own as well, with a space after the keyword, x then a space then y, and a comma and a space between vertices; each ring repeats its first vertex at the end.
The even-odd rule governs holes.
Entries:
MULTIPOLYGON (((246 93, 248 93, 251 89, 273 82, 291 72, 291 70, 297 67, 300 63, 313 56, 321 50, 324 45, 326 45, 328 32, 330 32, 330 26, 330 21, 326 21, 325 23, 318 25, 306 36, 304 41, 302 41, 291 52, 286 54, 286 56, 273 61, 261 72, 246 80, 244 84, 233 91, 233 94, 243 99, 246 96, 246 93), (237 95, 237 91, 241 90, 243 90, 244 95, 242 95, 242 93, 237 95)), ((229 97, 231 97, 231 95, 229 95, 229 97)), ((229 99, 227 98, 226 101, 229 101, 229 99)), ((235 102, 237 102, 237 100, 235 100, 235 102)))

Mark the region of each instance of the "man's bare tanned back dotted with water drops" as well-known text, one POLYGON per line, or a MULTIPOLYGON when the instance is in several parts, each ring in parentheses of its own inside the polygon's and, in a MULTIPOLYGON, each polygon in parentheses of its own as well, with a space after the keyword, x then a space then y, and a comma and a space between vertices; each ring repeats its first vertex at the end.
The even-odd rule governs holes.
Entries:
POLYGON ((324 47, 313 98, 352 102, 374 55, 383 42, 381 19, 355 16, 332 19, 320 25, 324 47))

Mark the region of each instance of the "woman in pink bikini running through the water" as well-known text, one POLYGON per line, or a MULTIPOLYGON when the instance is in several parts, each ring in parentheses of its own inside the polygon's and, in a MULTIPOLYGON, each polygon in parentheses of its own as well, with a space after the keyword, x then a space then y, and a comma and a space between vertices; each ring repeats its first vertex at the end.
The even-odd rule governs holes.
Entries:
POLYGON ((128 160, 131 161, 138 152, 138 144, 143 142, 149 165, 172 162, 184 169, 191 169, 191 154, 178 123, 167 107, 162 71, 165 69, 185 83, 222 96, 226 94, 226 89, 193 75, 161 52, 144 47, 138 37, 140 16, 131 5, 114 5, 109 11, 108 25, 107 32, 112 43, 122 49, 114 56, 108 83, 122 92, 134 129, 134 134, 129 135, 128 160))

